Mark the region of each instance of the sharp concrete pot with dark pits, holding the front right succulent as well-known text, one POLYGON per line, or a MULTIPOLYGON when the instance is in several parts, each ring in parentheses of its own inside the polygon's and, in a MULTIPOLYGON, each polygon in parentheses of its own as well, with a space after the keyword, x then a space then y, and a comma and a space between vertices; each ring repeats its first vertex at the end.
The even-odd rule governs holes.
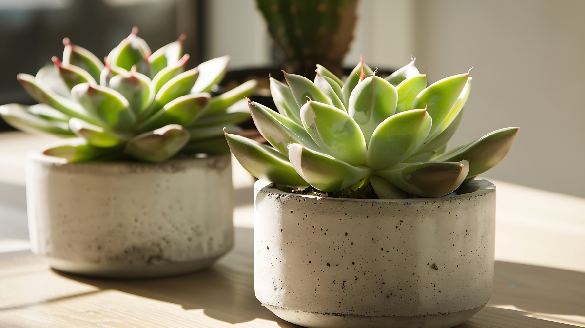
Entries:
POLYGON ((256 298, 307 327, 453 327, 491 298, 495 187, 318 198, 254 186, 256 298))

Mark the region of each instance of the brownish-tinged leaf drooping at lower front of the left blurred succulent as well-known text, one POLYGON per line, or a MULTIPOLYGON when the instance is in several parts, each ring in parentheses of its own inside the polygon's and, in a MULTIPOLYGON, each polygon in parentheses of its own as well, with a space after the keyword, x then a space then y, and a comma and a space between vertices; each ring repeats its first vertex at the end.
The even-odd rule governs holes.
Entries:
POLYGON ((133 137, 126 143, 124 153, 139 160, 160 163, 175 156, 188 141, 187 130, 171 124, 133 137))

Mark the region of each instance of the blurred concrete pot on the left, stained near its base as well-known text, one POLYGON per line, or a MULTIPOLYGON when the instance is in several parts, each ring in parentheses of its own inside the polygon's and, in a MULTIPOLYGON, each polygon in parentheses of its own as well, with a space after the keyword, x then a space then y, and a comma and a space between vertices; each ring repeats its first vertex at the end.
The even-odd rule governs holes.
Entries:
POLYGON ((230 156, 65 164, 29 154, 33 253, 51 267, 137 278, 200 270, 233 244, 230 156))

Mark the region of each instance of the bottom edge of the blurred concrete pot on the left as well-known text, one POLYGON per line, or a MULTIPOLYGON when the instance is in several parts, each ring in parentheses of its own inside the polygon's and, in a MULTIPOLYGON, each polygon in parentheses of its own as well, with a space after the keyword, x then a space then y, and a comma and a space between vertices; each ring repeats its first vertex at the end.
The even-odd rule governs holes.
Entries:
POLYGON ((158 264, 88 264, 50 258, 51 268, 67 274, 93 278, 134 279, 161 278, 183 275, 203 270, 218 260, 218 257, 202 260, 158 263, 158 264))

